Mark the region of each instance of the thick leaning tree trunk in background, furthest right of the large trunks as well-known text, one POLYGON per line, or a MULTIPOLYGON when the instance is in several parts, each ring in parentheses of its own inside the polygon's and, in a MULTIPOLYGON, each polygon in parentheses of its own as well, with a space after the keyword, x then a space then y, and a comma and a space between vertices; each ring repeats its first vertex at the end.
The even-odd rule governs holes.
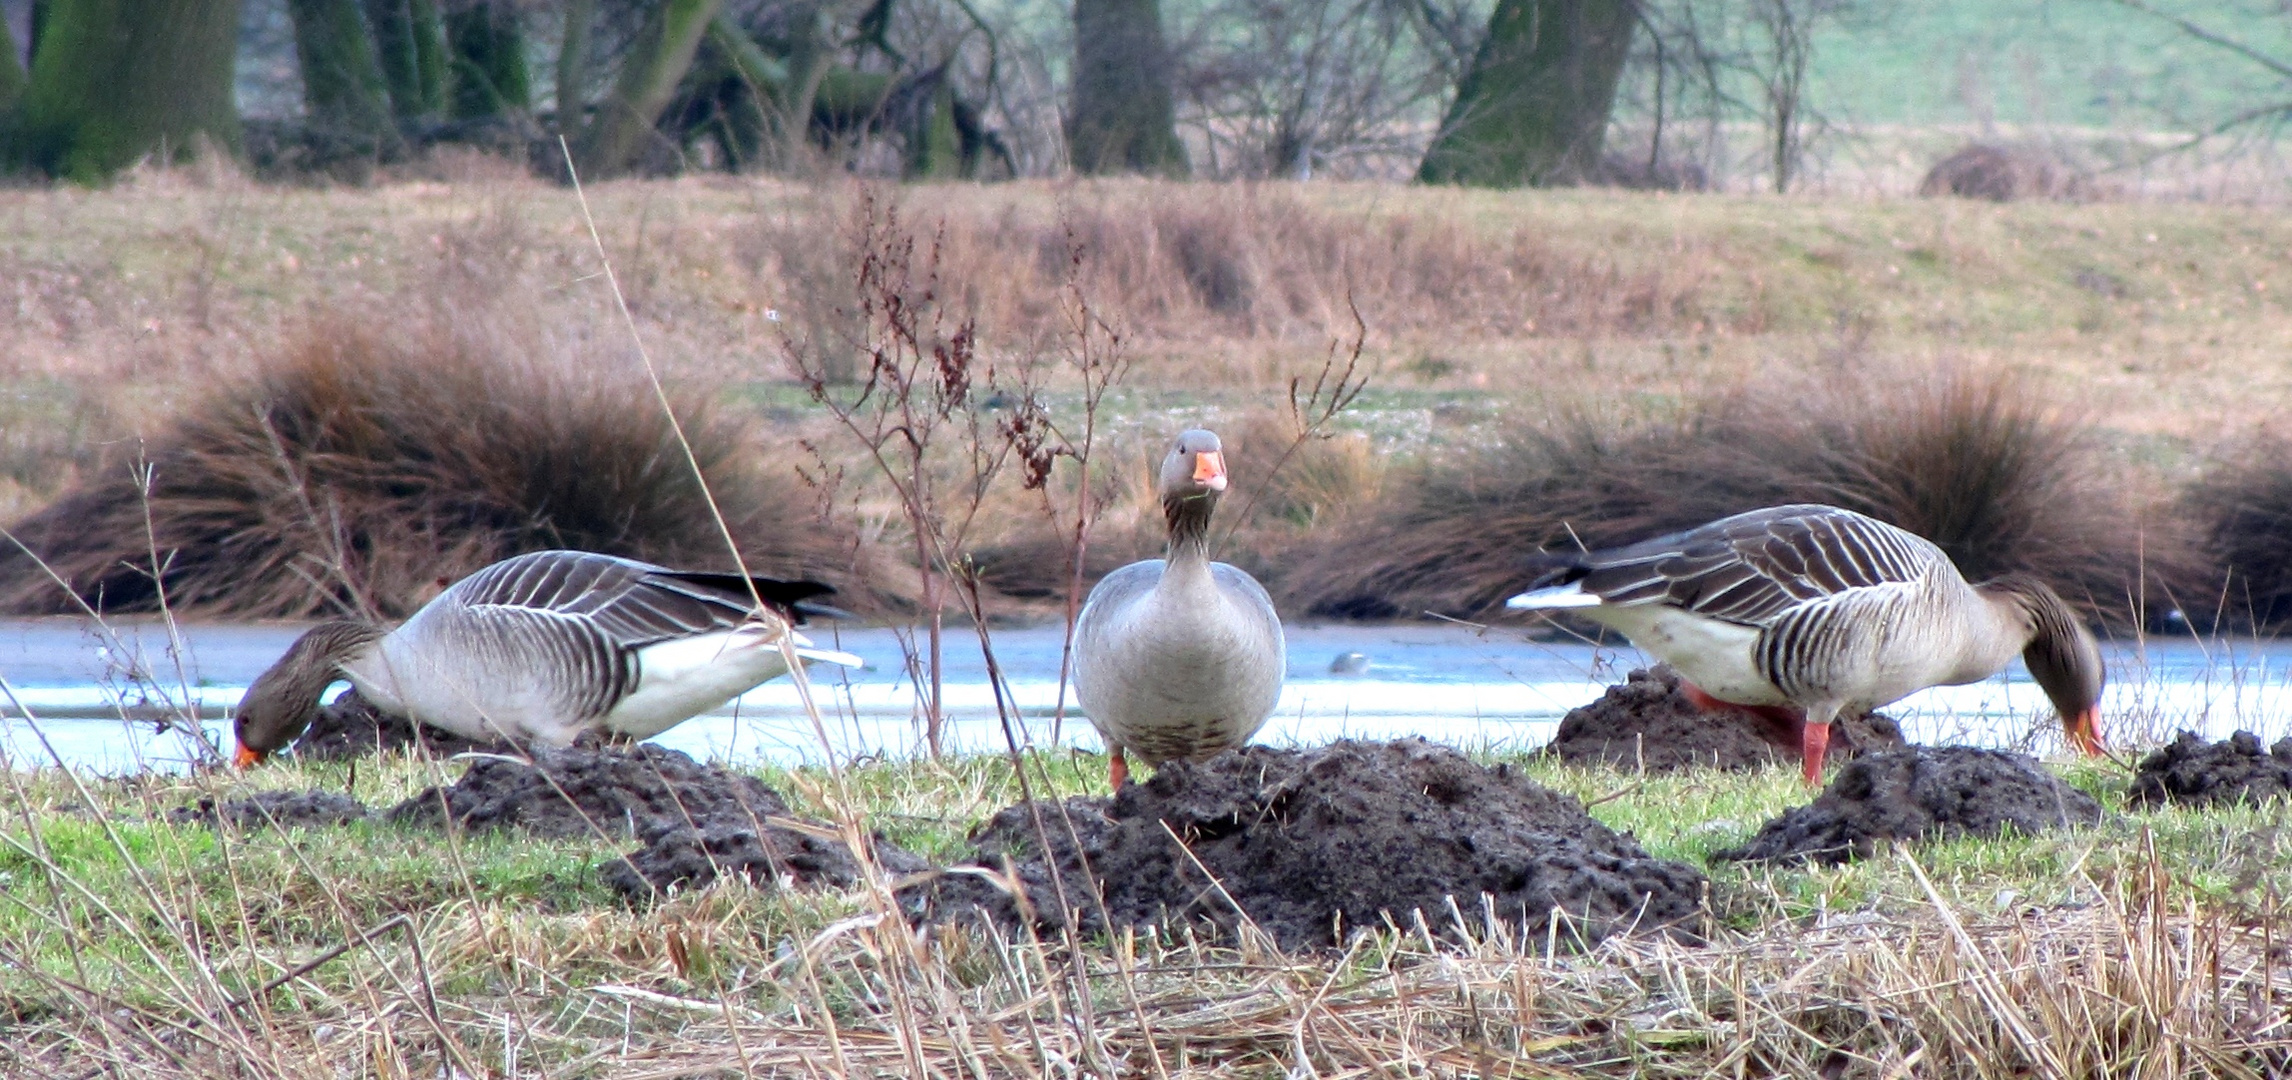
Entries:
POLYGON ((1497 0, 1416 179, 1510 188, 1591 177, 1636 25, 1634 0, 1497 0))

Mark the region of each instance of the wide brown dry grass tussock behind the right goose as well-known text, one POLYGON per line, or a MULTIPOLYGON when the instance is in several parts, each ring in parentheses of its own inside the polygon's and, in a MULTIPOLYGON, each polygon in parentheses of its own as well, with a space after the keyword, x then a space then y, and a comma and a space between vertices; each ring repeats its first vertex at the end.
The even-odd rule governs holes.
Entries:
POLYGON ((2182 562, 2090 472, 2083 426, 2035 401, 2017 378, 1953 374, 1767 383, 1666 422, 1572 413, 1389 482, 1382 507, 1286 559, 1274 589, 1311 615, 1483 615, 1529 582, 1538 550, 1829 502, 1932 539, 1973 580, 2031 571, 2129 621, 2143 573, 2168 582, 2182 562))

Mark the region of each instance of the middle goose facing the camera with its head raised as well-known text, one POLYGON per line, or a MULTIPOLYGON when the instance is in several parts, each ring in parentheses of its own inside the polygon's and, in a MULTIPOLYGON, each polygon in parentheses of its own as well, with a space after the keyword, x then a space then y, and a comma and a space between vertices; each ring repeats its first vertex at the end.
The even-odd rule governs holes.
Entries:
POLYGON ((1116 791, 1130 780, 1125 752, 1160 766, 1247 743, 1288 674, 1265 587, 1210 562, 1210 511, 1226 491, 1217 436, 1178 436, 1160 488, 1169 559, 1105 576, 1075 619, 1075 697, 1107 741, 1116 791))

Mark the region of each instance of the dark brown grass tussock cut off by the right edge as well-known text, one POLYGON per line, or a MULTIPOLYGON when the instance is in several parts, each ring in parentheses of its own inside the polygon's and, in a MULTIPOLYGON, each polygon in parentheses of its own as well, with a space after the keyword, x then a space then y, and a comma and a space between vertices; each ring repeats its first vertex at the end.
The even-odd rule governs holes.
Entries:
POLYGON ((2182 493, 2214 573, 2182 589, 2189 621, 2276 631, 2292 621, 2292 440, 2260 436, 2182 493))

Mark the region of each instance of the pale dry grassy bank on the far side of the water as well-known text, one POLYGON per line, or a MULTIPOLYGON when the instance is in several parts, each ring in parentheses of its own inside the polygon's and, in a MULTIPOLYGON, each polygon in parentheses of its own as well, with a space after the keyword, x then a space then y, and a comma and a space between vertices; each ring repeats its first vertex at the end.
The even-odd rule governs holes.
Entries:
MULTIPOLYGON (((830 576, 880 601, 855 603, 866 610, 912 605, 917 585, 901 564, 912 562, 915 543, 882 472, 800 385, 788 358, 807 355, 832 378, 859 374, 853 365, 862 365, 873 323, 871 298, 855 282, 866 252, 887 250, 885 234, 912 238, 910 284, 944 312, 942 330, 970 326, 974 374, 999 388, 976 401, 1041 401, 1073 426, 1082 390, 1068 360, 1084 307, 1100 346, 1118 337, 1128 367, 1098 417, 1093 571, 1160 546, 1160 518, 1139 477, 1160 443, 1187 424, 1229 436, 1235 477, 1249 488, 1224 511, 1222 525, 1233 530, 1224 555, 1267 576, 1295 612, 1355 610, 1336 596, 1343 582, 1309 573, 1286 589, 1284 566, 1300 553, 1343 550, 1322 541, 1348 525, 1350 537, 1380 548, 1396 548, 1384 539, 1391 530, 1453 537, 1458 514, 1471 530, 1490 514, 1469 495, 1485 486, 1483 475, 1517 477, 1529 459, 1549 459, 1563 477, 1584 475, 1568 454, 1538 452, 1570 431, 1595 436, 1584 443, 1588 461, 1618 445, 1669 454, 1641 484, 1648 498, 1666 498, 1678 484, 1664 477, 1701 472, 1710 431, 1726 429, 1737 452, 1779 424, 1854 436, 1868 429, 1859 415, 1884 415, 1921 376, 1957 371, 2001 378, 1985 385, 2012 388, 2015 417, 2028 417, 2015 424, 2042 420, 2047 445, 2074 447, 2070 465, 2028 472, 2038 488, 2017 498, 2028 507, 2035 495, 2058 495, 2070 511, 2054 518, 2083 525, 2051 539, 2070 543, 2024 562, 2109 569, 2063 587, 2090 594, 2097 612, 2120 621, 2127 610, 2161 608, 2143 576, 2177 564, 2196 571, 2166 576, 2168 585, 2191 596, 2168 605, 2274 610, 2264 598, 2239 598, 2269 594, 2269 582, 2223 589, 2216 557, 2274 550, 2237 537, 2271 521, 2246 504, 2251 491, 2271 488, 2267 477, 2207 488, 2198 507, 2232 518, 2221 525, 2228 534, 2189 521, 2180 495, 2209 463, 2253 459, 2255 433, 2292 404, 2292 365, 2281 358, 2281 342, 2292 339, 2283 300, 2292 284, 2271 282, 2292 252, 2292 225, 2251 209, 1148 181, 919 186, 871 197, 862 188, 731 179, 614 183, 591 190, 591 209, 635 339, 676 399, 711 404, 729 424, 706 452, 754 463, 756 484, 747 486, 761 495, 747 500, 756 527, 745 532, 759 539, 743 537, 752 559, 830 576), (1293 454, 1284 390, 1293 378, 1311 381, 1329 344, 1357 332, 1355 312, 1368 388, 1332 420, 1327 433, 1339 438, 1293 454), (1730 401, 1756 408, 1719 408, 1730 401), (1703 422, 1721 413, 1733 429, 1703 422), (1669 438, 1671 429, 1703 429, 1703 443, 1669 438), (1281 475, 1265 479, 1277 461, 1281 475), (1419 500, 1426 491, 1469 498, 1449 498, 1432 514, 1419 500), (827 523, 809 525, 816 514, 827 523)), ((472 452, 490 463, 429 475, 500 479, 429 502, 399 491, 401 472, 419 470, 399 470, 406 452, 390 449, 392 438, 426 447, 516 429, 587 440, 532 422, 564 413, 545 394, 516 424, 481 408, 456 413, 456 394, 468 397, 456 385, 495 385, 468 376, 470 365, 500 360, 504 371, 523 371, 502 385, 587 385, 607 413, 642 408, 630 330, 566 190, 484 174, 376 190, 144 174, 103 193, 0 193, 0 220, 9 222, 0 280, 18 312, 18 332, 0 342, 9 390, 0 397, 0 521, 23 525, 76 482, 108 484, 99 502, 112 527, 87 530, 76 509, 41 523, 55 534, 117 541, 117 550, 78 553, 87 573, 69 573, 73 580, 149 576, 124 569, 151 562, 154 543, 140 537, 144 488, 188 491, 186 514, 199 521, 181 537, 261 534, 277 541, 264 548, 270 553, 328 550, 321 541, 332 537, 342 550, 371 546, 371 576, 387 578, 319 596, 303 576, 353 559, 286 566, 266 555, 268 578, 245 603, 202 585, 202 596, 215 598, 193 605, 211 610, 289 615, 346 596, 380 596, 374 608, 399 610, 424 582, 406 566, 484 562, 502 537, 626 541, 619 548, 660 557, 692 557, 713 543, 713 523, 690 511, 692 500, 681 500, 688 511, 674 518, 685 525, 658 518, 644 537, 610 514, 564 518, 566 504, 623 502, 619 488, 566 486, 566 475, 603 472, 575 454, 552 454, 562 468, 527 470, 472 452), (431 392, 442 388, 442 404, 410 406, 390 438, 369 440, 385 454, 351 454, 351 468, 337 470, 380 477, 380 491, 342 495, 342 509, 321 491, 300 518, 280 516, 273 507, 293 502, 282 491, 321 477, 321 463, 282 468, 280 459, 348 452, 328 438, 312 438, 309 449, 257 438, 264 431, 250 426, 250 408, 296 358, 362 337, 378 344, 337 349, 339 369, 355 371, 362 355, 410 353, 415 367, 461 374, 415 378, 431 392), (229 484, 248 493, 236 518, 211 511, 204 482, 176 488, 135 470, 158 461, 176 475, 186 461, 206 461, 202 452, 167 452, 186 433, 215 429, 234 431, 238 449, 227 454, 243 459, 234 468, 245 482, 229 484), (486 537, 433 527, 454 518, 484 518, 470 527, 486 537), (355 534, 360 521, 376 523, 371 537, 355 534), (417 525, 394 525, 406 521, 417 525), (662 539, 667 532, 678 537, 662 539)), ((658 470, 653 433, 617 445, 630 447, 621 454, 626 477, 658 470)), ((1836 459, 1838 447, 1831 438, 1811 454, 1836 459)), ((1884 447, 1847 452, 1889 459, 1884 447)), ((1744 498, 1824 495, 1847 484, 1808 479, 1804 472, 1820 472, 1813 465, 1785 472, 1797 475, 1751 484, 1744 498)), ((424 484, 442 491, 447 482, 424 484)), ((1066 573, 1054 555, 1066 541, 1054 521, 1075 484, 1070 470, 1059 472, 1045 502, 1004 477, 983 495, 986 514, 963 537, 963 555, 1002 589, 997 603, 1013 601, 997 610, 1061 610, 1066 573)), ((1543 518, 1490 543, 1561 537, 1602 504, 1604 495, 1593 495, 1552 502, 1591 507, 1559 511, 1559 523, 1547 521, 1549 507, 1531 507, 1543 518)), ((1618 507, 1611 518, 1671 523, 1671 511, 1703 504, 1685 495, 1696 493, 1671 507, 1618 507)), ((1889 498, 1898 493, 1870 504, 1889 498)), ((174 548, 167 525, 154 532, 174 548)), ((213 571, 222 585, 234 573, 227 559, 213 571)), ((1423 562, 1405 573, 1444 571, 1423 562)), ((1382 566, 1371 576, 1391 578, 1382 566)), ((121 582, 101 592, 126 596, 121 582)), ((1504 587, 1474 580, 1419 592, 1481 596, 1504 587)), ((1412 612, 1419 601, 1384 596, 1382 608, 1359 610, 1412 612)))

